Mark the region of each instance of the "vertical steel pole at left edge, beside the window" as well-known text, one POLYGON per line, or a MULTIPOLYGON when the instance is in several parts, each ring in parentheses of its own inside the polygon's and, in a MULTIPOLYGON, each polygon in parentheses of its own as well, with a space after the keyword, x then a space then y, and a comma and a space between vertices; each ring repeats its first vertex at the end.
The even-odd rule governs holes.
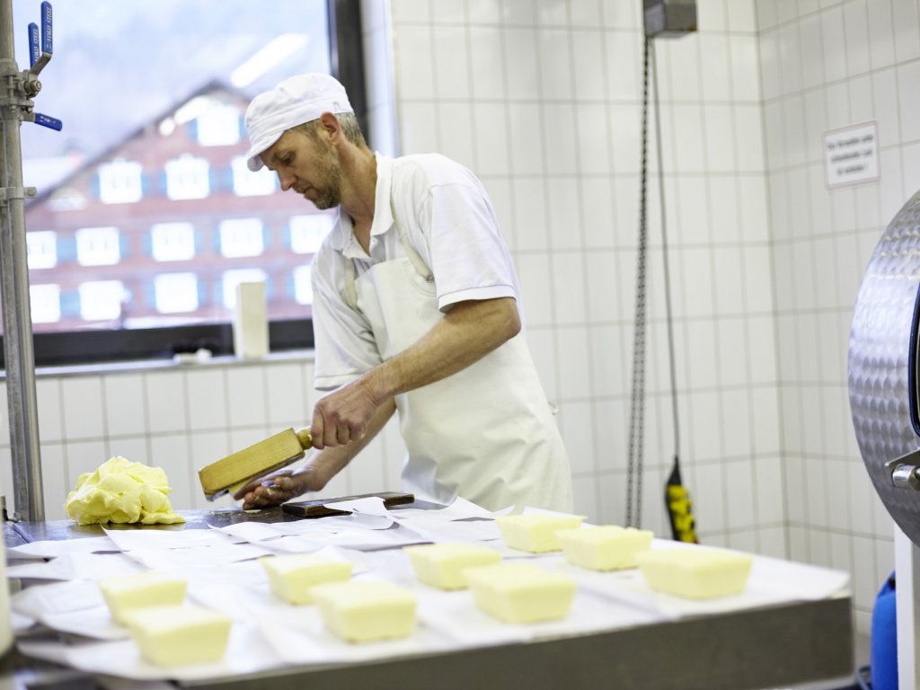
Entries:
POLYGON ((17 101, 18 67, 13 47, 12 0, 0 0, 0 303, 3 305, 6 397, 13 454, 14 500, 17 519, 44 519, 41 489, 39 413, 35 395, 35 355, 29 309, 29 265, 26 256, 25 190, 22 187, 22 148, 17 101))

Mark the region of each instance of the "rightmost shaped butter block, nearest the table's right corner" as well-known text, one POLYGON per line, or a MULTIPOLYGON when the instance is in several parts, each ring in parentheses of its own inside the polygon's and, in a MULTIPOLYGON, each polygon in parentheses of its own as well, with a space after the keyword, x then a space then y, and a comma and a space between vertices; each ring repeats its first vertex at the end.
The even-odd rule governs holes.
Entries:
POLYGON ((636 554, 649 587, 684 599, 716 599, 744 590, 749 554, 720 548, 667 548, 636 554))

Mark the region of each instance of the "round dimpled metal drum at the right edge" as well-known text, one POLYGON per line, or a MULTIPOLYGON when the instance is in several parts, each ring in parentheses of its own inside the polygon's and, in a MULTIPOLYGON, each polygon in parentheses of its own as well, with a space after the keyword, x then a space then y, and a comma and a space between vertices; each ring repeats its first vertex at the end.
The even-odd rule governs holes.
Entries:
MULTIPOLYGON (((920 545, 920 491, 891 484, 885 463, 920 448, 911 424, 908 357, 920 283, 920 192, 882 234, 859 287, 848 387, 859 451, 891 517, 920 545)), ((854 525, 857 526, 857 525, 854 525)))

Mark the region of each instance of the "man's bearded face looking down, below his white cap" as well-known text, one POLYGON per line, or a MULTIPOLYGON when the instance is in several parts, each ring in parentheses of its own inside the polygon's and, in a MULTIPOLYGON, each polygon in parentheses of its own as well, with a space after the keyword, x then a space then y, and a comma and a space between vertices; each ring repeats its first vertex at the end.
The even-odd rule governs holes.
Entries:
POLYGON ((282 190, 293 189, 317 209, 341 203, 339 155, 323 132, 312 137, 288 130, 262 152, 262 162, 278 175, 282 190))

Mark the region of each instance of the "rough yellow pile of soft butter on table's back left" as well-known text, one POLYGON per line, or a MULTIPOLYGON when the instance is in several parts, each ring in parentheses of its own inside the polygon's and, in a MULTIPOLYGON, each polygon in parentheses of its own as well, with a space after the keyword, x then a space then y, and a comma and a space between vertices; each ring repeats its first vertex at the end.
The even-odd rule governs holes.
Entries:
POLYGON ((175 524, 185 519, 173 512, 167 494, 167 474, 160 467, 132 463, 121 455, 76 480, 64 510, 80 524, 175 524))

